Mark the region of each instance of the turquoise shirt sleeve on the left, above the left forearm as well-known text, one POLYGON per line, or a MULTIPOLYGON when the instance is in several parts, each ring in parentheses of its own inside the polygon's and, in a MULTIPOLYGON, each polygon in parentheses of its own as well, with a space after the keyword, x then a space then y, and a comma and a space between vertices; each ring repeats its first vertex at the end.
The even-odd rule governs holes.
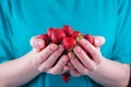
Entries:
POLYGON ((0 63, 14 58, 12 44, 13 32, 9 16, 11 12, 9 11, 10 9, 7 0, 0 1, 0 63))

